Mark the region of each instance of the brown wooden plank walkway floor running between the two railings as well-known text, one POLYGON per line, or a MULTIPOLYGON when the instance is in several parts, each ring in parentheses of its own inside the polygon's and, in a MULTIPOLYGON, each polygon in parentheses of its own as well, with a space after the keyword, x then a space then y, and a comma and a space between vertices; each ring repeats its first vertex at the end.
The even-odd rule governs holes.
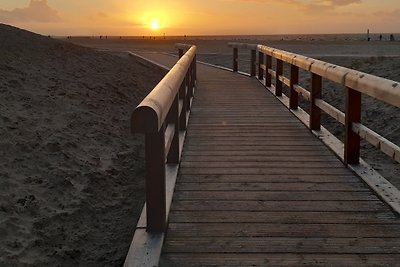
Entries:
POLYGON ((256 79, 198 64, 160 266, 400 266, 400 220, 256 79))

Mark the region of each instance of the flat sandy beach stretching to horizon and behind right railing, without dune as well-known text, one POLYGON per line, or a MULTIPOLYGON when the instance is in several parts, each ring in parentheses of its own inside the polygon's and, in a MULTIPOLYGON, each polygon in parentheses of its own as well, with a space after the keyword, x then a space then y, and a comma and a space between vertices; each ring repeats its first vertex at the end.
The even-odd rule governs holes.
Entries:
MULTIPOLYGON (((386 36, 387 37, 387 36, 386 36)), ((398 36, 397 40, 399 39, 398 36)), ((298 53, 359 71, 400 81, 400 41, 363 40, 363 35, 311 35, 311 36, 243 36, 243 37, 188 37, 156 40, 142 38, 72 38, 71 41, 84 46, 113 51, 165 52, 176 54, 175 43, 191 43, 198 46, 198 59, 231 68, 232 50, 228 42, 265 44, 285 51, 298 53)), ((387 39, 387 38, 386 38, 387 39)), ((239 50, 239 58, 249 61, 250 53, 239 50)), ((249 72, 249 63, 240 62, 239 69, 249 72)), ((285 72, 289 73, 288 66, 285 72)), ((310 75, 301 72, 301 85, 309 88, 310 75)), ((288 93, 286 89, 286 93, 288 93)), ((333 106, 344 109, 344 88, 324 81, 323 99, 333 106)), ((308 103, 301 101, 308 110, 308 103)), ((343 140, 343 127, 323 114, 323 125, 343 140)), ((390 141, 400 145, 400 109, 363 96, 362 122, 390 141)), ((362 157, 385 178, 400 188, 400 165, 388 156, 362 141, 362 157)))

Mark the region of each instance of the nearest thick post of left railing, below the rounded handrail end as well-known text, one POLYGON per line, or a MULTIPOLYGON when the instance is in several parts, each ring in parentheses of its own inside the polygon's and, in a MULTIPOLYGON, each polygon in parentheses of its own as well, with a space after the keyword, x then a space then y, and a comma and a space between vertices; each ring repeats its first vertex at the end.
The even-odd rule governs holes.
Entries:
POLYGON ((165 127, 146 133, 146 211, 147 232, 163 232, 166 227, 165 127))

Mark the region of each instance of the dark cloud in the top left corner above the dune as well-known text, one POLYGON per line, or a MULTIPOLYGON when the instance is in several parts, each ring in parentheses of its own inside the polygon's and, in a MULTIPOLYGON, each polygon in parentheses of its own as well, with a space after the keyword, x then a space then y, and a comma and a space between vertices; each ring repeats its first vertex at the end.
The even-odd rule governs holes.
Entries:
POLYGON ((60 21, 57 10, 51 8, 47 0, 31 0, 26 8, 16 8, 11 11, 0 9, 2 22, 57 22, 60 21))

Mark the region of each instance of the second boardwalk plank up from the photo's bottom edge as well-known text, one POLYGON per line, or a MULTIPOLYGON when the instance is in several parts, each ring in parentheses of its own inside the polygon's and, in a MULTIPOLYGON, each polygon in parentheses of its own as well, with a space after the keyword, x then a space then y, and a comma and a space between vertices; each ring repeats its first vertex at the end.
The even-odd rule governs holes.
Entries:
MULTIPOLYGON (((386 253, 398 254, 398 238, 290 238, 219 237, 173 239, 164 245, 165 253, 386 253)), ((390 257, 390 255, 388 255, 390 257)))

